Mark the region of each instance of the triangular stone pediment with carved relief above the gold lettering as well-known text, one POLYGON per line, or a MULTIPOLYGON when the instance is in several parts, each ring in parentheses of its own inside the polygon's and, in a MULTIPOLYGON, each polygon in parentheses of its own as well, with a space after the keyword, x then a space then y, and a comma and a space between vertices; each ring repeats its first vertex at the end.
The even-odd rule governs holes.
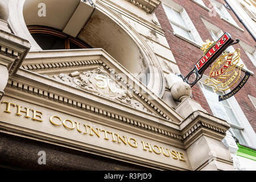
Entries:
POLYGON ((183 120, 103 49, 30 52, 21 68, 168 121, 183 120))

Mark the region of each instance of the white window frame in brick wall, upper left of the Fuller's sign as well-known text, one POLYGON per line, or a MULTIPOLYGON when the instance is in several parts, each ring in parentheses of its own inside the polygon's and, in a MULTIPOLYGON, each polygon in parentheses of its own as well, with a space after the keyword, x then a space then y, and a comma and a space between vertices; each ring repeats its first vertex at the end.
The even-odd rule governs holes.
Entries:
MULTIPOLYGON (((183 18, 186 26, 188 27, 188 28, 186 28, 186 27, 182 27, 182 28, 183 29, 186 28, 188 31, 190 31, 190 34, 191 34, 193 40, 192 39, 188 39, 185 36, 182 36, 182 35, 178 34, 175 31, 174 31, 174 35, 177 36, 180 39, 183 39, 183 40, 193 44, 196 47, 201 48, 202 45, 203 45, 203 40, 201 39, 201 36, 197 32, 196 27, 194 26, 192 20, 189 18, 189 16, 188 16, 187 12, 185 11, 184 7, 178 5, 177 3, 175 3, 172 0, 162 0, 162 5, 163 5, 164 11, 166 11, 165 10, 165 6, 167 6, 167 7, 171 8, 171 9, 173 9, 173 10, 178 11, 181 14, 181 17, 183 18)), ((171 24, 173 23, 176 26, 180 26, 179 24, 177 24, 174 21, 172 21, 169 17, 168 17, 168 19, 169 19, 171 24)))

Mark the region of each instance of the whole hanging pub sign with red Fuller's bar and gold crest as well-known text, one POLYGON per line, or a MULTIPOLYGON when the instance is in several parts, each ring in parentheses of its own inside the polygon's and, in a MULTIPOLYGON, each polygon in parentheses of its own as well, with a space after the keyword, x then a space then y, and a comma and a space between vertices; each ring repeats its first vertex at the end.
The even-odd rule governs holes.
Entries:
POLYGON ((224 52, 226 48, 237 44, 239 41, 240 40, 237 39, 236 42, 234 42, 227 32, 225 32, 217 42, 207 40, 206 43, 203 44, 203 47, 201 47, 201 50, 204 51, 203 57, 197 61, 195 67, 186 77, 182 75, 179 76, 192 87, 200 80, 209 65, 212 65, 212 69, 209 73, 209 77, 205 80, 205 84, 213 86, 214 91, 218 92, 218 90, 229 90, 240 81, 236 88, 224 96, 219 96, 218 100, 223 101, 234 96, 250 77, 250 73, 246 72, 241 80, 241 69, 244 65, 240 63, 240 49, 236 49, 233 53, 224 52))

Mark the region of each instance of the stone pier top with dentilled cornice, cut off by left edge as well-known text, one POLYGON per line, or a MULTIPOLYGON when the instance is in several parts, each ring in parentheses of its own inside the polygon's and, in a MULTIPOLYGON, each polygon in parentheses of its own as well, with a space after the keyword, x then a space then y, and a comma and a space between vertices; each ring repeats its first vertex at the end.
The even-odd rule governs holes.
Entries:
POLYGON ((27 52, 30 43, 11 33, 8 27, 9 9, 0 0, 0 100, 3 97, 8 78, 14 75, 27 52))

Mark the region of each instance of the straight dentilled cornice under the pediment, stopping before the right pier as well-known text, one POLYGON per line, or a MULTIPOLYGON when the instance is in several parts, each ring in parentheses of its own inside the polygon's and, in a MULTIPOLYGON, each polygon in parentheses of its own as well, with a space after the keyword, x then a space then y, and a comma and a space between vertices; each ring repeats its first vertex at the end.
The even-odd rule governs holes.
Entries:
MULTIPOLYGON (((44 103, 47 102, 56 102, 56 104, 61 104, 63 107, 73 107, 75 109, 79 109, 81 111, 85 111, 86 113, 90 113, 93 115, 97 115, 98 117, 105 117, 112 119, 114 121, 117 121, 118 123, 124 123, 126 125, 129 125, 131 127, 136 127, 138 129, 147 130, 152 133, 162 135, 163 137, 167 137, 172 140, 176 140, 177 143, 181 145, 182 137, 177 131, 177 129, 173 129, 174 131, 170 130, 170 126, 160 127, 160 123, 153 125, 150 122, 150 117, 146 119, 146 121, 141 121, 141 119, 137 117, 132 117, 133 114, 129 114, 130 117, 125 117, 125 115, 119 114, 120 111, 117 109, 115 110, 107 110, 102 109, 103 105, 97 106, 84 101, 79 101, 78 99, 74 99, 71 96, 66 97, 63 94, 57 94, 52 92, 52 90, 46 90, 42 89, 38 86, 31 86, 29 84, 26 84, 24 82, 19 82, 17 80, 10 79, 7 84, 6 88, 6 95, 10 96, 13 94, 13 92, 19 93, 20 96, 23 98, 25 97, 35 97, 36 100, 42 100, 44 103), (30 94, 31 96, 28 96, 27 94, 30 94), (119 113, 118 113, 119 112, 119 113), (137 118, 137 119, 135 119, 137 118), (168 129, 169 128, 169 129, 168 129)), ((131 108, 132 109, 132 108, 131 108)), ((141 115, 143 118, 143 115, 141 115)), ((152 115, 153 117, 153 115, 152 115)), ((160 119, 160 118, 159 118, 160 119)), ((157 120, 157 119, 156 119, 157 120)))

